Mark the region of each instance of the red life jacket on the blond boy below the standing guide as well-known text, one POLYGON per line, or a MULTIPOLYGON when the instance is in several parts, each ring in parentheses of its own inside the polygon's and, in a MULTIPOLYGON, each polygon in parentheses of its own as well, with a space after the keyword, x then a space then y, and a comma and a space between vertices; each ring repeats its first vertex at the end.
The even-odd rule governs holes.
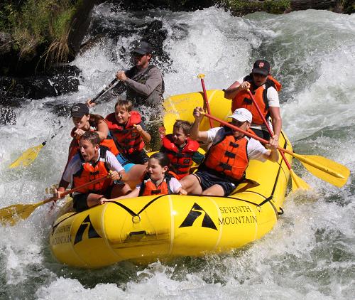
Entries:
POLYGON ((109 126, 109 131, 119 143, 118 148, 122 150, 124 154, 132 154, 144 148, 145 144, 142 136, 138 134, 138 132, 133 131, 133 125, 140 124, 142 121, 139 112, 131 111, 131 117, 129 117, 126 126, 117 123, 114 113, 107 115, 106 121, 109 126))

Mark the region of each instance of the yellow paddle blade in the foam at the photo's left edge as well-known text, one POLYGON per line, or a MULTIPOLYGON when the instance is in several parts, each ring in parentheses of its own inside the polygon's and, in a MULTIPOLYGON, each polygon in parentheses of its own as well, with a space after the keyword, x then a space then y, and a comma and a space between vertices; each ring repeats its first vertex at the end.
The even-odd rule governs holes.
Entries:
POLYGON ((0 223, 2 225, 15 225, 18 220, 27 219, 35 208, 43 205, 44 201, 35 204, 15 204, 0 209, 0 223))

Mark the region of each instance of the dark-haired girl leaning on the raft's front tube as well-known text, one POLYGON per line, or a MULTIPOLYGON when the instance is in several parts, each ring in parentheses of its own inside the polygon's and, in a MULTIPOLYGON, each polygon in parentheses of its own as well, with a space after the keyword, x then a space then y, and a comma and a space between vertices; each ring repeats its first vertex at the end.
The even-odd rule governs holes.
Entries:
POLYGON ((187 195, 178 179, 169 173, 170 161, 165 153, 156 152, 148 159, 146 176, 143 182, 136 186, 131 193, 114 200, 134 198, 141 195, 187 195))

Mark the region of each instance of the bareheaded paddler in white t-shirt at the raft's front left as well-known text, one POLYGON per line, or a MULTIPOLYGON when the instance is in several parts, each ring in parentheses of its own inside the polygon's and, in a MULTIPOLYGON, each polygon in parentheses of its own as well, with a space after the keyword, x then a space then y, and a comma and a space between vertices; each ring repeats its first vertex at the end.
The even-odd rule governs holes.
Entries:
POLYGON ((131 191, 131 188, 125 183, 114 184, 115 180, 126 181, 128 176, 114 154, 106 147, 99 146, 99 143, 99 134, 96 132, 85 132, 81 136, 80 153, 76 154, 67 164, 59 188, 55 190, 55 196, 59 199, 62 198, 62 193, 70 182, 75 188, 94 179, 107 177, 109 174, 109 178, 106 180, 73 193, 73 206, 77 212, 97 204, 103 204, 104 197, 114 198, 131 191))

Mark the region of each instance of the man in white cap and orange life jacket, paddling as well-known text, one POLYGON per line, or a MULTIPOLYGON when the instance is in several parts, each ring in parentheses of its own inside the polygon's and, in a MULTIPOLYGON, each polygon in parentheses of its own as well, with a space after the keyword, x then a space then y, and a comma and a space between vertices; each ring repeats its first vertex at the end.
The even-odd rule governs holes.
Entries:
MULTIPOLYGON (((229 127, 214 127, 201 132, 200 122, 203 118, 202 107, 194 109, 195 122, 192 124, 190 137, 203 143, 211 143, 204 161, 196 173, 182 178, 180 183, 187 193, 195 195, 229 195, 245 178, 245 170, 250 159, 259 161, 278 161, 278 150, 269 145, 271 150, 256 139, 244 136, 229 127)), ((244 131, 251 125, 251 112, 239 108, 229 116, 233 124, 244 131)))

